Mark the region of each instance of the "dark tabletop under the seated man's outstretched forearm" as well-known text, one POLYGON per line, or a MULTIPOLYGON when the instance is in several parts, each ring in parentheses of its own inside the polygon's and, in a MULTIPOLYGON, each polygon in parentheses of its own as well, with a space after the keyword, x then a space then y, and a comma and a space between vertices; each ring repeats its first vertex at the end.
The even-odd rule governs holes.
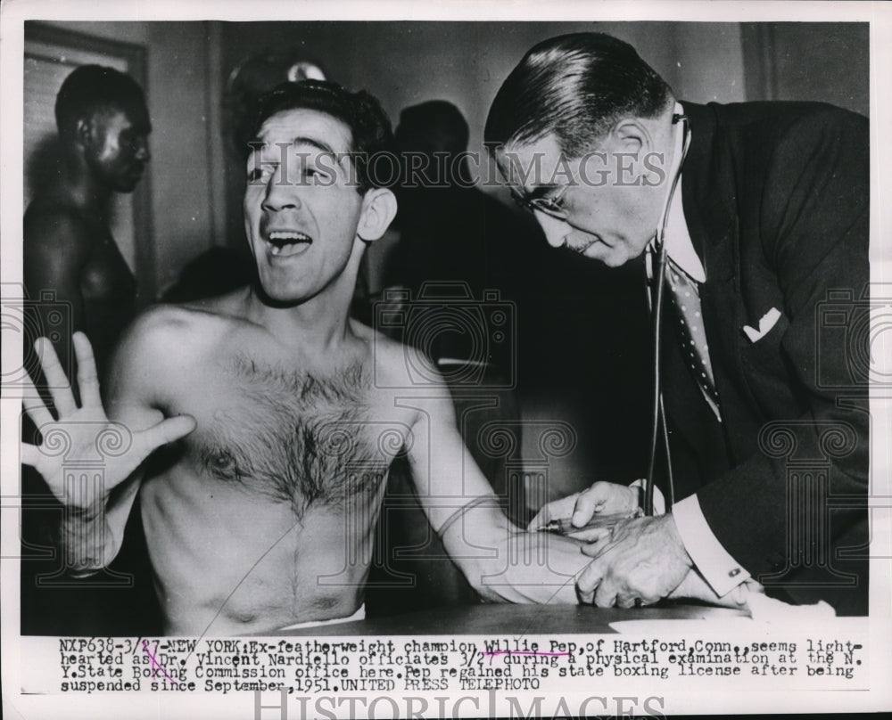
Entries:
POLYGON ((609 624, 618 620, 721 620, 741 616, 747 613, 694 605, 621 610, 591 605, 486 604, 278 631, 277 635, 591 634, 614 633, 609 624))

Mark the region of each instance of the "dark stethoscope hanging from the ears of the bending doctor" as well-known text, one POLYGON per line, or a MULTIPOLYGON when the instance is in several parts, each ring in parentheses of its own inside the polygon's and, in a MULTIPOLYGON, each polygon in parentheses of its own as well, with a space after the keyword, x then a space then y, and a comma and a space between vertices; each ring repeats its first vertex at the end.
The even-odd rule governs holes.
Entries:
POLYGON ((663 297, 665 295, 665 269, 666 269, 666 246, 665 232, 666 222, 669 219, 669 209, 672 207, 675 188, 681 178, 681 166, 688 154, 690 145, 690 121, 686 115, 673 113, 673 125, 681 122, 681 158, 678 167, 675 169, 672 184, 669 186, 669 192, 666 193, 663 212, 660 214, 660 221, 657 224, 657 236, 655 239, 655 247, 657 248, 657 264, 653 268, 651 275, 656 282, 656 291, 652 293, 651 312, 654 318, 653 328, 653 396, 651 398, 651 418, 650 418, 650 450, 648 454, 648 474, 644 485, 644 513, 645 515, 654 514, 654 474, 657 466, 657 443, 662 435, 666 457, 666 489, 668 497, 666 498, 666 510, 672 506, 674 501, 674 481, 672 474, 672 462, 669 460, 669 432, 666 429, 665 409, 663 407, 663 390, 660 387, 660 341, 662 334, 662 317, 663 317, 663 297))

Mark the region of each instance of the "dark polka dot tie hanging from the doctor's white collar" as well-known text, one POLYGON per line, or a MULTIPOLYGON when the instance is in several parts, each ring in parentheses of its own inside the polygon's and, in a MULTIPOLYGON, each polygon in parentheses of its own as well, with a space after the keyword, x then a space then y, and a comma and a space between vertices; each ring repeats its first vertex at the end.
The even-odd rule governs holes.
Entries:
POLYGON ((681 339, 684 360, 693 372, 703 397, 706 398, 715 417, 721 421, 719 396, 715 390, 713 366, 709 362, 709 347, 706 345, 706 330, 703 327, 697 282, 691 280, 671 258, 666 262, 666 281, 672 290, 669 298, 675 311, 673 324, 677 330, 676 334, 681 339))

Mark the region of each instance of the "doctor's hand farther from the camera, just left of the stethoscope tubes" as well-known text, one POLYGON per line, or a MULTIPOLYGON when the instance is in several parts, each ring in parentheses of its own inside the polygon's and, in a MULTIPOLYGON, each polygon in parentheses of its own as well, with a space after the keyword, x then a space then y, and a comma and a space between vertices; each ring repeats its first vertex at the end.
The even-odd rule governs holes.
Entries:
MULTIPOLYGON (((547 525, 549 520, 571 518, 574 527, 582 528, 597 515, 632 513, 639 507, 640 490, 612 482, 596 482, 581 493, 567 495, 542 506, 527 529, 531 532, 547 525)), ((593 541, 609 536, 609 528, 592 528, 569 533, 576 540, 593 541)))

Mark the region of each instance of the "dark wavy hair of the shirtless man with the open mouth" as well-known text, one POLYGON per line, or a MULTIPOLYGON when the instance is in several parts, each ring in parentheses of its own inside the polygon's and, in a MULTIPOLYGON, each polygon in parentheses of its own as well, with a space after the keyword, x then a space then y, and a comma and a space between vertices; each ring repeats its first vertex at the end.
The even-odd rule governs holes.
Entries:
MULTIPOLYGON (((350 151, 353 153, 359 194, 392 182, 392 176, 385 178, 384 182, 379 173, 369 171, 370 167, 374 168, 376 159, 392 150, 393 144, 390 119, 372 94, 365 90, 351 93, 328 80, 282 83, 260 98, 252 136, 258 135, 260 126, 267 119, 285 110, 317 110, 350 128, 350 151)), ((389 160, 390 156, 387 157, 389 160)))

